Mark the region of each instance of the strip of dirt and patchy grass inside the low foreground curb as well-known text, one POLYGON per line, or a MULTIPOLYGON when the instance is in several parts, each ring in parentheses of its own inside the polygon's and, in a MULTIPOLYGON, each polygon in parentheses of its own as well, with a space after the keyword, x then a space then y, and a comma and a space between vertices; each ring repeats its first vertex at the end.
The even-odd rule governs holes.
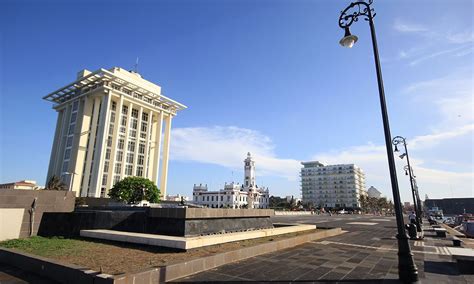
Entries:
POLYGON ((321 230, 308 230, 279 236, 224 243, 188 251, 87 238, 62 239, 33 237, 2 242, 0 246, 18 249, 27 253, 59 260, 64 263, 89 267, 92 270, 102 271, 108 274, 121 274, 137 272, 149 267, 189 261, 222 252, 238 250, 243 247, 311 234, 317 231, 321 230))

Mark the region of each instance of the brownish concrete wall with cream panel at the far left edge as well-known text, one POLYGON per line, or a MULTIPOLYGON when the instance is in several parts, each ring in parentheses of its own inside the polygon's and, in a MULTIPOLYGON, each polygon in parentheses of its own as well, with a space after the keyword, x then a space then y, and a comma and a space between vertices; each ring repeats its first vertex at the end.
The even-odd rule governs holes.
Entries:
POLYGON ((30 209, 36 200, 33 235, 38 232, 44 212, 72 212, 73 192, 0 189, 0 241, 30 235, 30 209))

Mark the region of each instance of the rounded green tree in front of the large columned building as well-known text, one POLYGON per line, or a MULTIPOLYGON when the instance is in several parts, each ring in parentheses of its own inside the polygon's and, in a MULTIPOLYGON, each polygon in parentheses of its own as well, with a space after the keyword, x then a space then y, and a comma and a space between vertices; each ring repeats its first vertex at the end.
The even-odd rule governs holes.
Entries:
POLYGON ((149 179, 142 177, 126 177, 117 182, 109 191, 113 199, 135 204, 142 200, 151 203, 160 202, 160 190, 149 179))

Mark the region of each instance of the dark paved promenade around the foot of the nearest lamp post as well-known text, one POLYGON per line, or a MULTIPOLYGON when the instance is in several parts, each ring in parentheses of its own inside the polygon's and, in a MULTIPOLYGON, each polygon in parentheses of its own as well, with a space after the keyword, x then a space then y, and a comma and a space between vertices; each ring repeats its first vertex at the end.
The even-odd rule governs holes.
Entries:
MULTIPOLYGON (((273 221, 341 227, 347 233, 224 265, 177 281, 398 282, 394 217, 276 216, 273 221)), ((424 240, 410 241, 421 282, 474 283, 474 275, 459 273, 446 249, 450 243, 428 231, 424 240)), ((472 245, 470 240, 466 240, 466 244, 472 245)))

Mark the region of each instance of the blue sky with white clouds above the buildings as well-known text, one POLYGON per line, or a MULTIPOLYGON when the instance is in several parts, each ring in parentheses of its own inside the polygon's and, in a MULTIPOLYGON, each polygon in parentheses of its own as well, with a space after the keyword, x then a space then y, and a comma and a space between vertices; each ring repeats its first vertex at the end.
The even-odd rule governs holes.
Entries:
MULTIPOLYGON (((391 196, 369 27, 338 45, 349 1, 1 1, 0 182, 44 184, 56 113, 41 98, 81 69, 139 72, 185 105, 169 189, 242 181, 299 195, 300 162, 356 163, 391 196)), ((375 1, 392 135, 420 193, 474 195, 472 1, 375 1)), ((408 179, 397 159, 401 196, 408 179)))

